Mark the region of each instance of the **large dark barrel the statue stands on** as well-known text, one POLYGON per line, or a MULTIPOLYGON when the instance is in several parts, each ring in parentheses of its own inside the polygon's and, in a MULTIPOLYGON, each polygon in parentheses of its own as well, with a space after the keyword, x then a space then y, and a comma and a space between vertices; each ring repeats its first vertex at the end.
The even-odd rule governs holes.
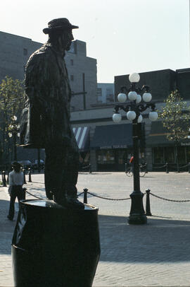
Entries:
POLYGON ((16 287, 90 287, 99 262, 98 209, 20 202, 12 244, 16 287))

